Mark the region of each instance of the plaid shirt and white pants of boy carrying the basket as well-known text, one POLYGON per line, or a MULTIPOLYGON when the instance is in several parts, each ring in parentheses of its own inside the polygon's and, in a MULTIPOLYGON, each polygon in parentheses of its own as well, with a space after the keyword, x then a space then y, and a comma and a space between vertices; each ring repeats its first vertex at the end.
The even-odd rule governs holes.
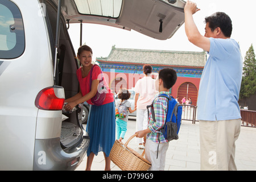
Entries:
MULTIPOLYGON (((159 92, 159 94, 169 94, 168 92, 159 92)), ((157 97, 157 96, 156 96, 157 97)), ((151 162, 149 170, 163 170, 166 163, 166 151, 169 146, 169 142, 164 138, 162 132, 159 130, 164 126, 166 122, 168 100, 165 97, 158 97, 154 101, 153 107, 155 111, 155 120, 152 119, 152 114, 148 118, 148 129, 151 133, 147 134, 145 157, 151 162), (159 150, 158 140, 160 139, 159 150), (158 152, 158 159, 156 159, 158 152)))

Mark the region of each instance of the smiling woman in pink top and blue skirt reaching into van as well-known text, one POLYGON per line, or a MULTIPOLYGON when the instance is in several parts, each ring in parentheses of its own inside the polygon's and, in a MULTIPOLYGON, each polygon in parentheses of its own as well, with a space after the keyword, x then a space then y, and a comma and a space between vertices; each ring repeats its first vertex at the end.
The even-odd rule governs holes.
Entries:
POLYGON ((86 131, 90 137, 90 143, 87 150, 86 170, 90 170, 94 155, 103 151, 105 156, 105 170, 110 170, 110 150, 115 141, 115 105, 113 93, 108 88, 104 78, 104 85, 109 92, 101 106, 93 105, 90 99, 97 93, 99 84, 98 76, 101 75, 101 68, 92 68, 92 49, 89 46, 81 46, 77 52, 77 58, 80 60, 82 67, 77 69, 76 75, 80 84, 80 92, 75 96, 68 98, 65 102, 65 110, 71 110, 77 104, 88 102, 91 105, 86 131), (92 74, 90 74, 92 73, 92 74), (92 76, 92 86, 90 89, 90 76, 92 76))

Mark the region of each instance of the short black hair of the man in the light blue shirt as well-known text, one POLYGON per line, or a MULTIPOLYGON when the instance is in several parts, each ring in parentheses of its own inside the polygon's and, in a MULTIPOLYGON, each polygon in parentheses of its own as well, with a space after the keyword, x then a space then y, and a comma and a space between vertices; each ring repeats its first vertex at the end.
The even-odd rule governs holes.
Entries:
POLYGON ((223 13, 223 12, 217 12, 213 15, 210 15, 205 18, 205 23, 209 22, 209 28, 212 30, 212 32, 215 30, 215 28, 220 27, 223 34, 230 38, 232 34, 232 20, 230 17, 223 13))

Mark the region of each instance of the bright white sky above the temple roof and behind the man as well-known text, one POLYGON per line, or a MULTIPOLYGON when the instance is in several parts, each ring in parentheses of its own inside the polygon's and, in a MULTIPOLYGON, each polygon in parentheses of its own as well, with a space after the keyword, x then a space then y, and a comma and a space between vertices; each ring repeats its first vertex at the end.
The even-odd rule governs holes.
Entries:
MULTIPOLYGON (((196 2, 197 7, 201 9, 193 15, 193 18, 202 35, 204 35, 205 28, 204 18, 217 11, 222 11, 232 19, 233 31, 231 38, 240 44, 243 59, 251 44, 253 44, 255 51, 255 0, 194 0, 193 2, 196 2)), ((127 31, 98 24, 83 23, 82 28, 82 44, 85 43, 93 49, 93 60, 96 60, 96 57, 108 57, 114 45, 116 48, 203 51, 203 49, 188 41, 184 24, 172 38, 167 40, 157 40, 137 31, 127 31)), ((77 52, 80 46, 80 24, 71 24, 68 31, 75 52, 77 52)))

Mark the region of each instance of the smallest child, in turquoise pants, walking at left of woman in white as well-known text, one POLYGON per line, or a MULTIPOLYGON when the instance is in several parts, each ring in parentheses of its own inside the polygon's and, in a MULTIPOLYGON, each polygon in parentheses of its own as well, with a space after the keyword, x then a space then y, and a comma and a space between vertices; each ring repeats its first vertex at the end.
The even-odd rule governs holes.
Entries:
MULTIPOLYGON (((129 110, 130 113, 133 113, 136 110, 136 107, 134 109, 131 109, 131 102, 127 101, 131 96, 131 93, 127 89, 120 89, 118 93, 118 98, 120 100, 117 102, 117 107, 115 107, 116 113, 118 112, 118 106, 120 104, 123 104, 126 107, 126 110, 129 110)), ((121 113, 120 113, 121 114, 121 113)), ((119 115, 119 113, 118 113, 119 115)), ((128 114, 125 115, 123 118, 116 118, 116 130, 117 130, 117 139, 121 142, 123 138, 125 138, 125 133, 127 131, 127 122, 128 122, 128 114)))

